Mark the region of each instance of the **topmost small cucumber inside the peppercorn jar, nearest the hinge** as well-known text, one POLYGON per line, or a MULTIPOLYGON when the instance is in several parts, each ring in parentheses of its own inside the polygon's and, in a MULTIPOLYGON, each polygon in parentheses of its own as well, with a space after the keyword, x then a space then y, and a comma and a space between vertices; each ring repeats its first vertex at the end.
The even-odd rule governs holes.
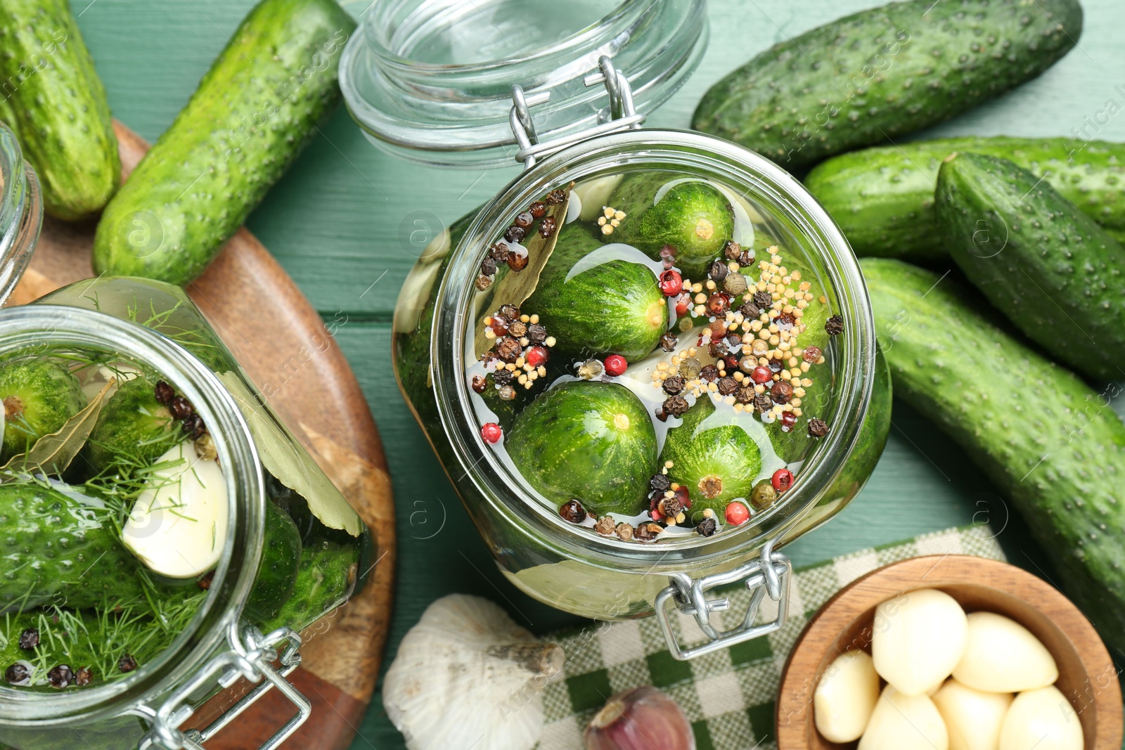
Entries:
POLYGON ((626 217, 612 233, 602 235, 602 242, 632 245, 656 261, 660 251, 670 246, 676 266, 691 279, 706 275, 708 266, 722 255, 735 233, 730 200, 705 180, 637 172, 626 175, 610 202, 626 217))

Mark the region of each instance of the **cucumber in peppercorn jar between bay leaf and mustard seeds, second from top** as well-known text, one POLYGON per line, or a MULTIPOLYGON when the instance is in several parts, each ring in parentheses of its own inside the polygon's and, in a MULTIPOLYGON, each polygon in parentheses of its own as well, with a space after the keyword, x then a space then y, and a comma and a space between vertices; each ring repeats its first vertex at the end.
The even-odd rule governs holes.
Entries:
POLYGON ((577 222, 566 225, 522 309, 539 315, 560 353, 621 354, 636 362, 668 329, 668 304, 648 265, 615 254, 601 257, 601 251, 577 222))

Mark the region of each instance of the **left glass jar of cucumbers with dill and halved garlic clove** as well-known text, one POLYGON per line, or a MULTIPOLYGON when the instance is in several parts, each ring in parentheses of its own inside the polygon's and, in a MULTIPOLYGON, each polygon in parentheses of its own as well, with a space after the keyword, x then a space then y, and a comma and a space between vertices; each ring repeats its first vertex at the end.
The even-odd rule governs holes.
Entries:
MULTIPOLYGON (((3 298, 37 233, 2 249, 3 298)), ((238 676, 307 716, 300 632, 363 585, 370 534, 184 292, 101 277, 0 311, 0 747, 196 747, 238 676)))

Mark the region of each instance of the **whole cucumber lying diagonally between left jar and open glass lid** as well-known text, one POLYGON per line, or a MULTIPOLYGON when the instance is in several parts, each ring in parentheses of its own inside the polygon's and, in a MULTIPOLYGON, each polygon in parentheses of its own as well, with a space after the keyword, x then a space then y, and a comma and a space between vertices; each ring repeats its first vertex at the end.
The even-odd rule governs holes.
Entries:
POLYGON ((354 21, 333 0, 262 0, 102 215, 96 273, 186 283, 340 98, 354 21))

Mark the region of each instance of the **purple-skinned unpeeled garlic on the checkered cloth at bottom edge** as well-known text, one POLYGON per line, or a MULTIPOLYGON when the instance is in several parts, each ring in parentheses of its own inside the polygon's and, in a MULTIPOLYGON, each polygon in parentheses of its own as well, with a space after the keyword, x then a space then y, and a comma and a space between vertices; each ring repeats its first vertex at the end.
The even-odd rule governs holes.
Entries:
POLYGON ((583 735, 586 750, 695 750, 695 735, 676 702, 655 687, 610 698, 583 735))

